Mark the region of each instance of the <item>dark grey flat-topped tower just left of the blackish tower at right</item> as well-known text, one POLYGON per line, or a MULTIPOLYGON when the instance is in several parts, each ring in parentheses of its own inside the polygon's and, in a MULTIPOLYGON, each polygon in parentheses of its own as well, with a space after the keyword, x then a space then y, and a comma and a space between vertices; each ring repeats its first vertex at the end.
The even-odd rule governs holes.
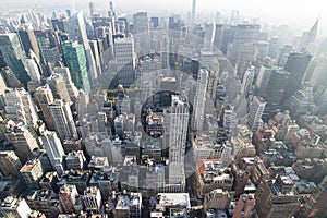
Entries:
POLYGON ((282 96, 289 83, 290 73, 283 69, 272 69, 270 80, 266 90, 266 119, 276 113, 280 109, 282 96))

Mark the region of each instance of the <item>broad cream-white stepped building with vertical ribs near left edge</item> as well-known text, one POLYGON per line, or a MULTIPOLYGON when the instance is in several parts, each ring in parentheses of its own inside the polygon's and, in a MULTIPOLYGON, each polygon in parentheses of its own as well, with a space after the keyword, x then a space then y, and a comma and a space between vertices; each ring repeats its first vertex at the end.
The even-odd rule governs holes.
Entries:
POLYGON ((7 89, 4 92, 5 118, 36 126, 38 116, 31 95, 24 88, 7 89))

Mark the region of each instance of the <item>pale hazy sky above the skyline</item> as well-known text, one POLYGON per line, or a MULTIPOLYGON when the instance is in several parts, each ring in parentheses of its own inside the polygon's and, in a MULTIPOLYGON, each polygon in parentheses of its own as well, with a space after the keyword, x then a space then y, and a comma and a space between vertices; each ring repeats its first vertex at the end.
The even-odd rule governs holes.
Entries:
MULTIPOLYGON (((93 0, 96 9, 108 8, 106 0, 93 0)), ((0 9, 4 7, 32 8, 35 2, 45 8, 72 7, 73 0, 0 0, 0 9)), ((75 0, 76 9, 87 9, 89 0, 75 0)), ((191 11, 192 0, 113 0, 117 11, 148 11, 152 12, 181 12, 191 11)), ((261 20, 275 23, 299 26, 308 29, 318 14, 320 15, 319 35, 327 36, 326 0, 197 0, 197 13, 208 14, 208 17, 219 11, 229 16, 231 10, 240 11, 246 17, 261 17, 261 20)))

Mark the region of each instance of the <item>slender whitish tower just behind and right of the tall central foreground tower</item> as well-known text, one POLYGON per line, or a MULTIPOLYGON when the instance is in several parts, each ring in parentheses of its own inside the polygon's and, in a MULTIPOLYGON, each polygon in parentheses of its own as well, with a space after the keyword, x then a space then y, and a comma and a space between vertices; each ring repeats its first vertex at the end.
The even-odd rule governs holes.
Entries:
POLYGON ((197 75, 196 94, 193 105, 192 129, 202 131, 208 86, 208 70, 201 69, 197 75))

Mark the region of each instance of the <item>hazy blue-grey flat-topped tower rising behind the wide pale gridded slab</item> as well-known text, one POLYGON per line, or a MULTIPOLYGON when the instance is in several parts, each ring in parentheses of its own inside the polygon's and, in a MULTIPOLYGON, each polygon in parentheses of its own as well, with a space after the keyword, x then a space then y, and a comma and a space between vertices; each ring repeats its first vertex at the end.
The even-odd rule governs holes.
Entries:
POLYGON ((147 12, 137 12, 133 15, 133 29, 140 41, 140 53, 147 55, 150 40, 147 12))

